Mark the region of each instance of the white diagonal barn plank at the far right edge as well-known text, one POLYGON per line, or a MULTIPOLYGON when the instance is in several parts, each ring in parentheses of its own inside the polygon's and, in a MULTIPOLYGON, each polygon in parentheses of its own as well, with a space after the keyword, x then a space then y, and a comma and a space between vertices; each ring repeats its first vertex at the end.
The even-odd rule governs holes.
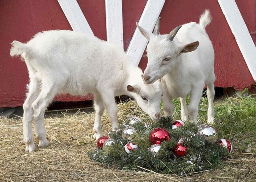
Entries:
POLYGON ((256 81, 256 47, 234 0, 218 0, 244 60, 256 81))

